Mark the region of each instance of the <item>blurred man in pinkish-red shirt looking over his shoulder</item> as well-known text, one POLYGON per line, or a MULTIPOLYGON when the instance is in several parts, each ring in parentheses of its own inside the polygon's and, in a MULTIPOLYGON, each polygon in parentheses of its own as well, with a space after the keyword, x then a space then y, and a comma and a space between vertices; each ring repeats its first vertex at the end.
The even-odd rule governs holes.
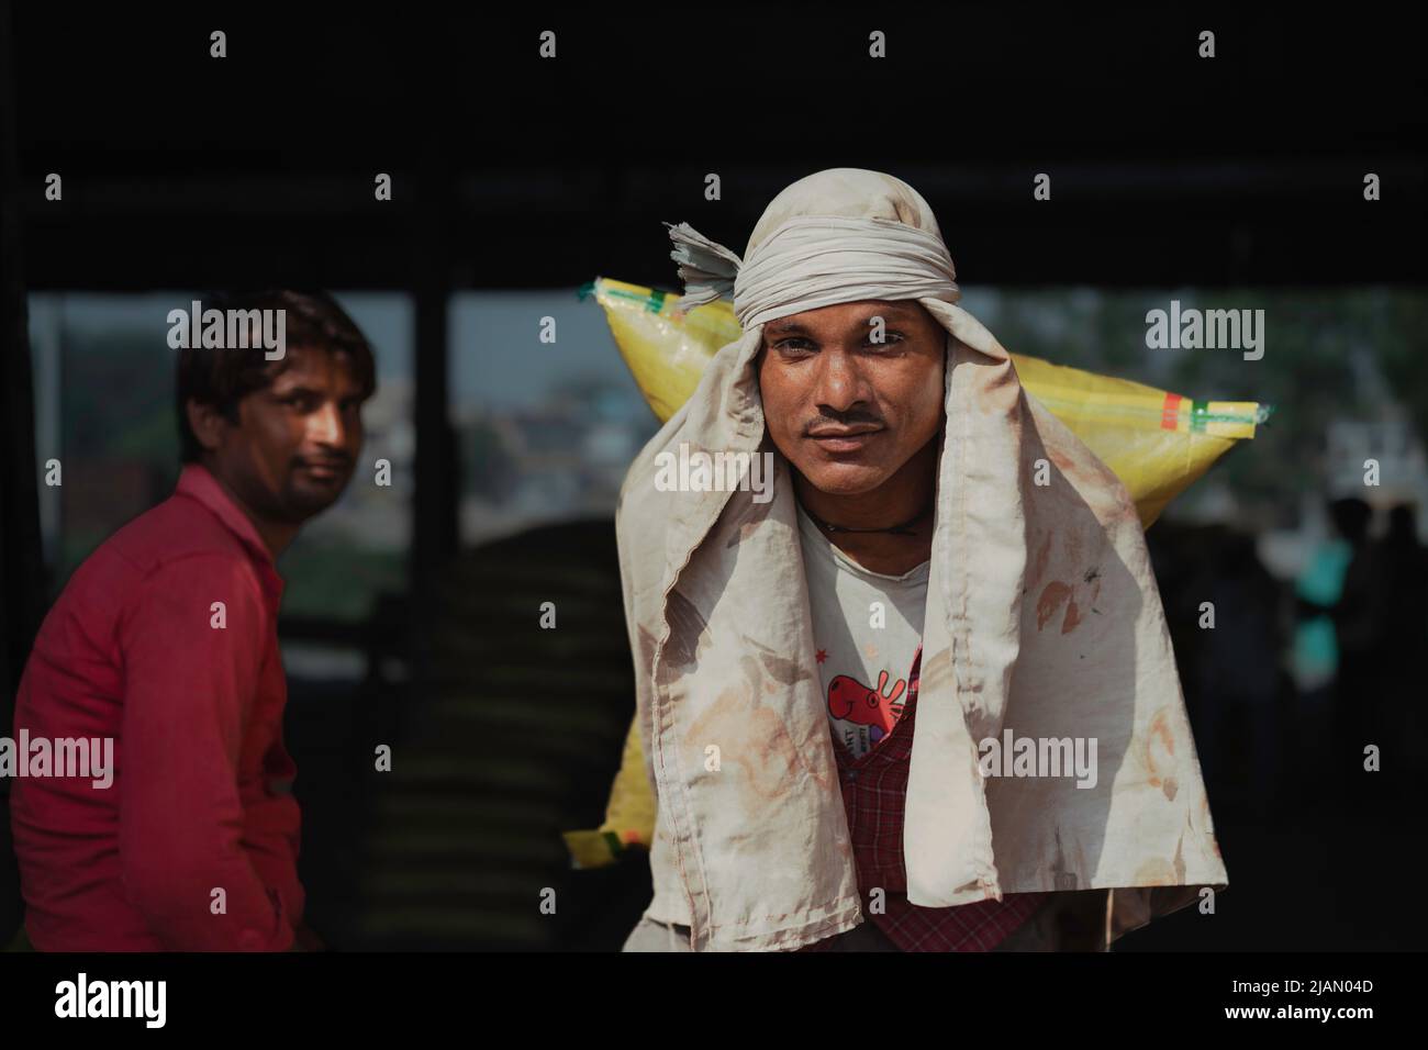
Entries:
POLYGON ((178 351, 178 486, 74 571, 20 683, 10 814, 40 950, 318 944, 297 877, 276 560, 353 476, 373 354, 327 294, 204 306, 214 337, 178 351), (258 337, 274 329, 276 353, 258 337), (66 740, 107 741, 106 774, 33 761, 66 740))

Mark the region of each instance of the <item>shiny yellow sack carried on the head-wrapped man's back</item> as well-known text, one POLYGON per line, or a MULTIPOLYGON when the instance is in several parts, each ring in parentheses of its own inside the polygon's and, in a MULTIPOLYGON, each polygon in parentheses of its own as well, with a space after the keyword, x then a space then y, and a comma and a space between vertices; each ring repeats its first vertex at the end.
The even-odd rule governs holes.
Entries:
MULTIPOLYGON (((604 307, 620 354, 661 423, 694 393, 720 347, 740 336, 733 304, 723 299, 680 316, 680 296, 638 284, 597 277, 580 290, 581 299, 588 294, 604 307)), ((1115 471, 1147 529, 1235 441, 1254 437, 1272 411, 1257 401, 1197 401, 1022 354, 1011 360, 1027 393, 1115 471)), ((627 846, 648 849, 653 834, 654 799, 638 721, 631 721, 605 823, 594 831, 565 831, 565 844, 574 867, 600 867, 627 846)))

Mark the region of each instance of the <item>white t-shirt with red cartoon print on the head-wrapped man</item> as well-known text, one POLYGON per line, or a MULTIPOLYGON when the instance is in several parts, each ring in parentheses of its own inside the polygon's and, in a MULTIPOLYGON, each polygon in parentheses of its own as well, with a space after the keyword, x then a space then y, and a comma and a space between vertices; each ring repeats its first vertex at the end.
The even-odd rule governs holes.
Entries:
POLYGON ((854 759, 885 740, 907 703, 931 561, 901 576, 864 569, 798 507, 813 639, 833 736, 854 759))

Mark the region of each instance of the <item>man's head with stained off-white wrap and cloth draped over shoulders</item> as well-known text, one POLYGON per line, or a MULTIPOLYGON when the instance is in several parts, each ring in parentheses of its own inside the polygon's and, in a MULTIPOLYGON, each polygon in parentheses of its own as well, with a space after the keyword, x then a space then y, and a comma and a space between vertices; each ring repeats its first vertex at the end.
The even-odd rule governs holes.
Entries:
POLYGON ((834 169, 780 193, 743 260, 670 234, 681 309, 733 294, 744 331, 617 511, 657 800, 641 926, 688 927, 695 950, 797 950, 887 896, 858 886, 800 507, 865 570, 928 561, 898 800, 907 906, 1090 901, 1107 947, 1225 886, 1135 506, 957 306, 927 201, 834 169), (681 450, 773 453, 773 497, 665 491, 661 453, 681 450), (988 764, 985 741, 1014 740, 1090 741, 1094 780, 988 764))

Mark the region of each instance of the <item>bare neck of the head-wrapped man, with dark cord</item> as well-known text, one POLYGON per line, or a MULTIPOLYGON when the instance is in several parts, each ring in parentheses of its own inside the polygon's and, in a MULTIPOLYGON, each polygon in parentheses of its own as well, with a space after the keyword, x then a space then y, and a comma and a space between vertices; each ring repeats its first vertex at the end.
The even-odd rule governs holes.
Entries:
POLYGON ((847 529, 891 529, 908 523, 911 536, 878 531, 827 531, 825 537, 844 554, 874 573, 901 576, 932 556, 932 497, 937 493, 940 443, 928 441, 912 459, 877 489, 841 496, 813 487, 794 471, 794 491, 811 514, 847 529))

